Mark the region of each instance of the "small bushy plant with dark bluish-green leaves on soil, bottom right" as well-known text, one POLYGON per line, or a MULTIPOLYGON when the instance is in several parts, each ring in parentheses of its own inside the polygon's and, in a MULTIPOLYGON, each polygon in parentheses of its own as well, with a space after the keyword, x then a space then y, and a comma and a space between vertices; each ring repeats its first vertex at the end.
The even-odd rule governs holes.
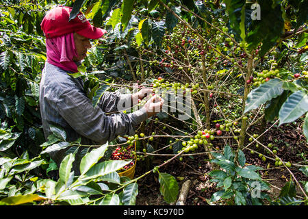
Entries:
POLYGON ((227 202, 235 205, 262 205, 264 199, 270 197, 264 190, 270 190, 270 186, 263 181, 255 171, 261 170, 258 166, 246 165, 246 158, 242 151, 238 153, 238 160, 231 147, 224 146, 224 154, 212 153, 215 159, 211 162, 218 164, 222 170, 212 170, 210 181, 217 183, 217 188, 222 188, 211 196, 211 202, 227 199, 227 202), (237 165, 237 163, 239 165, 237 165))

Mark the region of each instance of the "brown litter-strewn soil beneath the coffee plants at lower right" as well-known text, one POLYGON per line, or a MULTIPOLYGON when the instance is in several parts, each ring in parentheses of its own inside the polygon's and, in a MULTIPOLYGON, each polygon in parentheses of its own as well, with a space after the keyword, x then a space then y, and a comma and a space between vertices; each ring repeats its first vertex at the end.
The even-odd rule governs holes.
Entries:
MULTIPOLYGON (((268 124, 268 129, 272 124, 268 124)), ((290 161, 292 164, 307 165, 307 142, 305 136, 303 136, 303 131, 300 129, 300 123, 292 123, 287 125, 282 125, 281 127, 274 126, 268 132, 264 134, 263 143, 267 145, 268 143, 273 144, 272 149, 277 149, 277 155, 283 159, 283 161, 290 161), (306 161, 306 162, 305 162, 306 161)), ((258 131, 258 127, 252 127, 253 131, 258 131)), ((248 144, 248 138, 246 145, 248 144)), ((215 145, 215 144, 214 144, 215 145)), ((222 147, 222 145, 220 146, 222 147)), ((267 154, 262 146, 255 148, 255 144, 252 145, 252 149, 267 155, 268 157, 273 157, 267 154)), ((236 149, 236 146, 234 147, 236 149)), ((204 149, 199 148, 196 152, 202 152, 204 149)), ((250 151, 244 150, 246 155, 246 163, 261 166, 264 170, 259 170, 259 174, 262 179, 268 181, 271 185, 271 190, 268 194, 272 200, 279 196, 281 188, 285 185, 287 181, 292 179, 290 172, 283 166, 275 166, 274 160, 267 159, 266 162, 262 161, 261 158, 255 153, 251 154, 250 151), (268 164, 270 165, 268 167, 268 164)), ((195 156, 185 156, 183 161, 180 162, 179 159, 174 159, 172 162, 159 168, 159 172, 167 172, 174 176, 179 183, 179 190, 181 190, 181 185, 186 180, 190 179, 192 182, 190 185, 190 190, 185 201, 185 205, 209 205, 208 201, 214 192, 217 192, 215 183, 209 182, 210 177, 206 174, 209 173, 212 168, 211 164, 208 162, 207 155, 195 155, 195 156)), ((155 156, 151 161, 150 168, 153 169, 154 166, 162 164, 166 160, 166 157, 155 156)), ((146 170, 144 169, 144 162, 139 162, 136 166, 136 174, 138 177, 142 175, 146 170)), ((298 166, 293 166, 290 168, 297 181, 307 181, 307 177, 298 170, 298 166)), ((136 199, 136 205, 170 205, 164 201, 164 197, 159 192, 159 182, 158 174, 151 173, 146 177, 143 177, 138 181, 138 196, 136 199)), ((303 188, 303 184, 301 184, 303 188)), ((296 186, 297 198, 303 198, 303 193, 300 191, 298 186, 296 186)), ((174 205, 175 203, 171 203, 174 205)), ((227 205, 227 203, 220 203, 222 205, 227 205)), ((269 202, 265 202, 264 205, 268 205, 269 202)))

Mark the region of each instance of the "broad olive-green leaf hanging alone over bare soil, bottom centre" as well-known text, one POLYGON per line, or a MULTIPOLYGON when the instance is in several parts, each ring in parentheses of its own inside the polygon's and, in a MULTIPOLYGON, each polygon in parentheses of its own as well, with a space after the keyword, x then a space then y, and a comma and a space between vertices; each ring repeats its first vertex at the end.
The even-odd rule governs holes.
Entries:
POLYGON ((166 172, 159 172, 158 181, 160 183, 159 191, 168 203, 175 202, 179 193, 177 179, 166 172))

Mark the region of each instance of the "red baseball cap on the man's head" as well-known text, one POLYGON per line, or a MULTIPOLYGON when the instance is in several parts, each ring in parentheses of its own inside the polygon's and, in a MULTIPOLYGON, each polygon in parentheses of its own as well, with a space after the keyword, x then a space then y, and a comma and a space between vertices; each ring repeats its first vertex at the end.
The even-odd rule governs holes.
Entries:
POLYGON ((40 24, 46 38, 55 38, 76 32, 89 39, 98 39, 107 32, 105 29, 90 25, 82 12, 79 12, 74 19, 69 21, 72 9, 67 6, 57 6, 47 12, 40 24))

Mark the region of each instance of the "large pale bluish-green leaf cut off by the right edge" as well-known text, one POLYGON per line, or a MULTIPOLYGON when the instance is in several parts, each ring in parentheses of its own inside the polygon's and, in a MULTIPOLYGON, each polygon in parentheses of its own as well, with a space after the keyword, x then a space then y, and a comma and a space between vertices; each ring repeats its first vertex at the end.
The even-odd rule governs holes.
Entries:
POLYGON ((299 90, 291 94, 279 111, 279 125, 291 123, 308 110, 308 95, 299 90))

